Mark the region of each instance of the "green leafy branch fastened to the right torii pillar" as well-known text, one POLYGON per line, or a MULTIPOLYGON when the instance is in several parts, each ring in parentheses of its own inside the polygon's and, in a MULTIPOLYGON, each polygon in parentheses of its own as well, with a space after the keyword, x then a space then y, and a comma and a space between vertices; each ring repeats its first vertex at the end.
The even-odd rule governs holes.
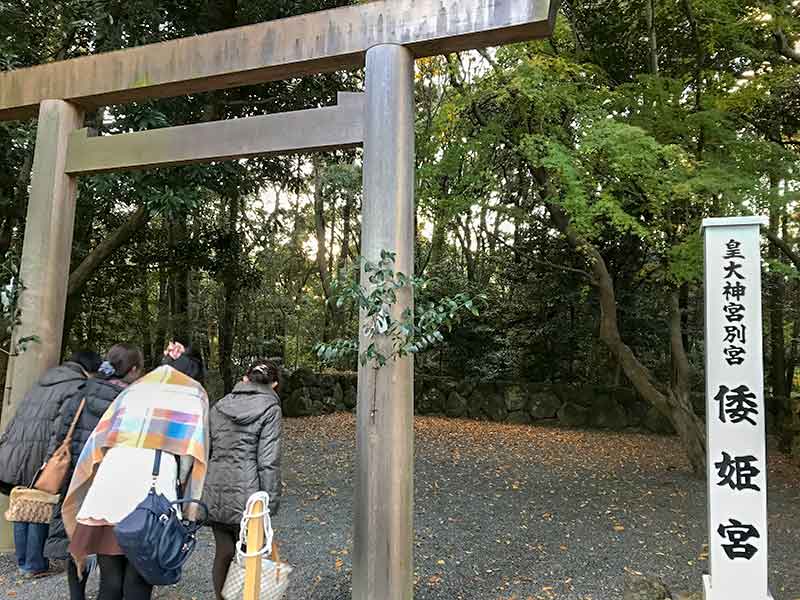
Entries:
POLYGON ((377 262, 359 257, 347 277, 333 282, 329 302, 335 302, 337 308, 350 305, 362 312, 362 333, 368 343, 360 353, 357 339, 317 344, 314 349, 323 363, 358 354, 362 366, 371 364, 379 369, 391 360, 418 354, 443 342, 443 331, 452 331, 468 314, 480 315, 479 305, 486 304, 486 296, 462 293, 420 303, 416 311, 406 308, 400 318, 395 318, 393 309, 401 290, 411 288, 416 294, 432 282, 427 277, 409 277, 396 271, 396 257, 390 250, 382 250, 377 262), (366 275, 366 286, 359 283, 360 268, 366 275))

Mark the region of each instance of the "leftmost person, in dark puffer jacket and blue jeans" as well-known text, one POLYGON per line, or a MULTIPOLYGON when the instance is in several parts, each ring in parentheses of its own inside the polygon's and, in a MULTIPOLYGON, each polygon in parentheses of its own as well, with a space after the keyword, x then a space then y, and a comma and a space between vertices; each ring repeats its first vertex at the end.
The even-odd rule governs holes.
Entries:
MULTIPOLYGON (((48 457, 54 422, 66 399, 100 366, 95 352, 76 352, 68 361, 48 370, 20 402, 0 437, 0 492, 31 485, 48 457)), ((14 523, 17 566, 26 575, 48 572, 42 551, 46 523, 14 523)))

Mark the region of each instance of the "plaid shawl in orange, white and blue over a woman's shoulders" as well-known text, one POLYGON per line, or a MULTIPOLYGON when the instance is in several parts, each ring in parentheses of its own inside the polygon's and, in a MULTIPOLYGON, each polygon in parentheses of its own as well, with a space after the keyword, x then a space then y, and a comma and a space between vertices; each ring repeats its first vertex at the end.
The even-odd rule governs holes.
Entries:
MULTIPOLYGON (((115 446, 193 457, 183 496, 200 500, 208 466, 208 397, 203 386, 163 366, 117 396, 83 447, 64 499, 64 527, 70 537, 97 467, 106 451, 115 446)), ((187 510, 190 518, 195 506, 187 510)))

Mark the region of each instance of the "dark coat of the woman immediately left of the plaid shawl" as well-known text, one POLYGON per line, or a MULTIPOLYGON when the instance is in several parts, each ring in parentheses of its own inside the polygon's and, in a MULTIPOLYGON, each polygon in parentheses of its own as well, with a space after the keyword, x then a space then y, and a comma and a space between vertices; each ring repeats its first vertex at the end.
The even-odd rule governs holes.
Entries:
MULTIPOLYGON (((78 463, 81 450, 86 445, 89 436, 92 435, 92 431, 100 421, 100 417, 103 416, 106 409, 111 406, 111 403, 123 389, 121 385, 111 381, 90 379, 78 388, 61 407, 61 412, 56 422, 56 432, 50 439, 49 454, 55 452, 56 448, 67 437, 67 431, 75 418, 75 413, 78 411, 81 400, 86 398, 86 405, 80 419, 78 419, 78 423, 75 425, 75 432, 72 434, 72 443, 70 444, 72 464, 70 464, 69 472, 64 478, 64 485, 61 488, 62 500, 69 489, 72 472, 78 463)), ((69 556, 67 546, 69 546, 69 540, 67 539, 67 532, 64 530, 64 521, 61 518, 61 504, 59 503, 53 509, 53 518, 50 521, 50 533, 47 536, 47 542, 45 542, 44 555, 50 559, 65 560, 69 556)))

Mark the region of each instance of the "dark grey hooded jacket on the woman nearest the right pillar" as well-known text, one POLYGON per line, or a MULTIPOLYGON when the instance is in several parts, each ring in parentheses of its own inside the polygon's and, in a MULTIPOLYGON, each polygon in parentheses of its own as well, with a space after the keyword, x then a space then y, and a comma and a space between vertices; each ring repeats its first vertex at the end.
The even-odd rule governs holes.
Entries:
POLYGON ((209 520, 238 525, 251 494, 281 498, 281 405, 269 386, 238 383, 211 409, 211 458, 203 488, 209 520))

